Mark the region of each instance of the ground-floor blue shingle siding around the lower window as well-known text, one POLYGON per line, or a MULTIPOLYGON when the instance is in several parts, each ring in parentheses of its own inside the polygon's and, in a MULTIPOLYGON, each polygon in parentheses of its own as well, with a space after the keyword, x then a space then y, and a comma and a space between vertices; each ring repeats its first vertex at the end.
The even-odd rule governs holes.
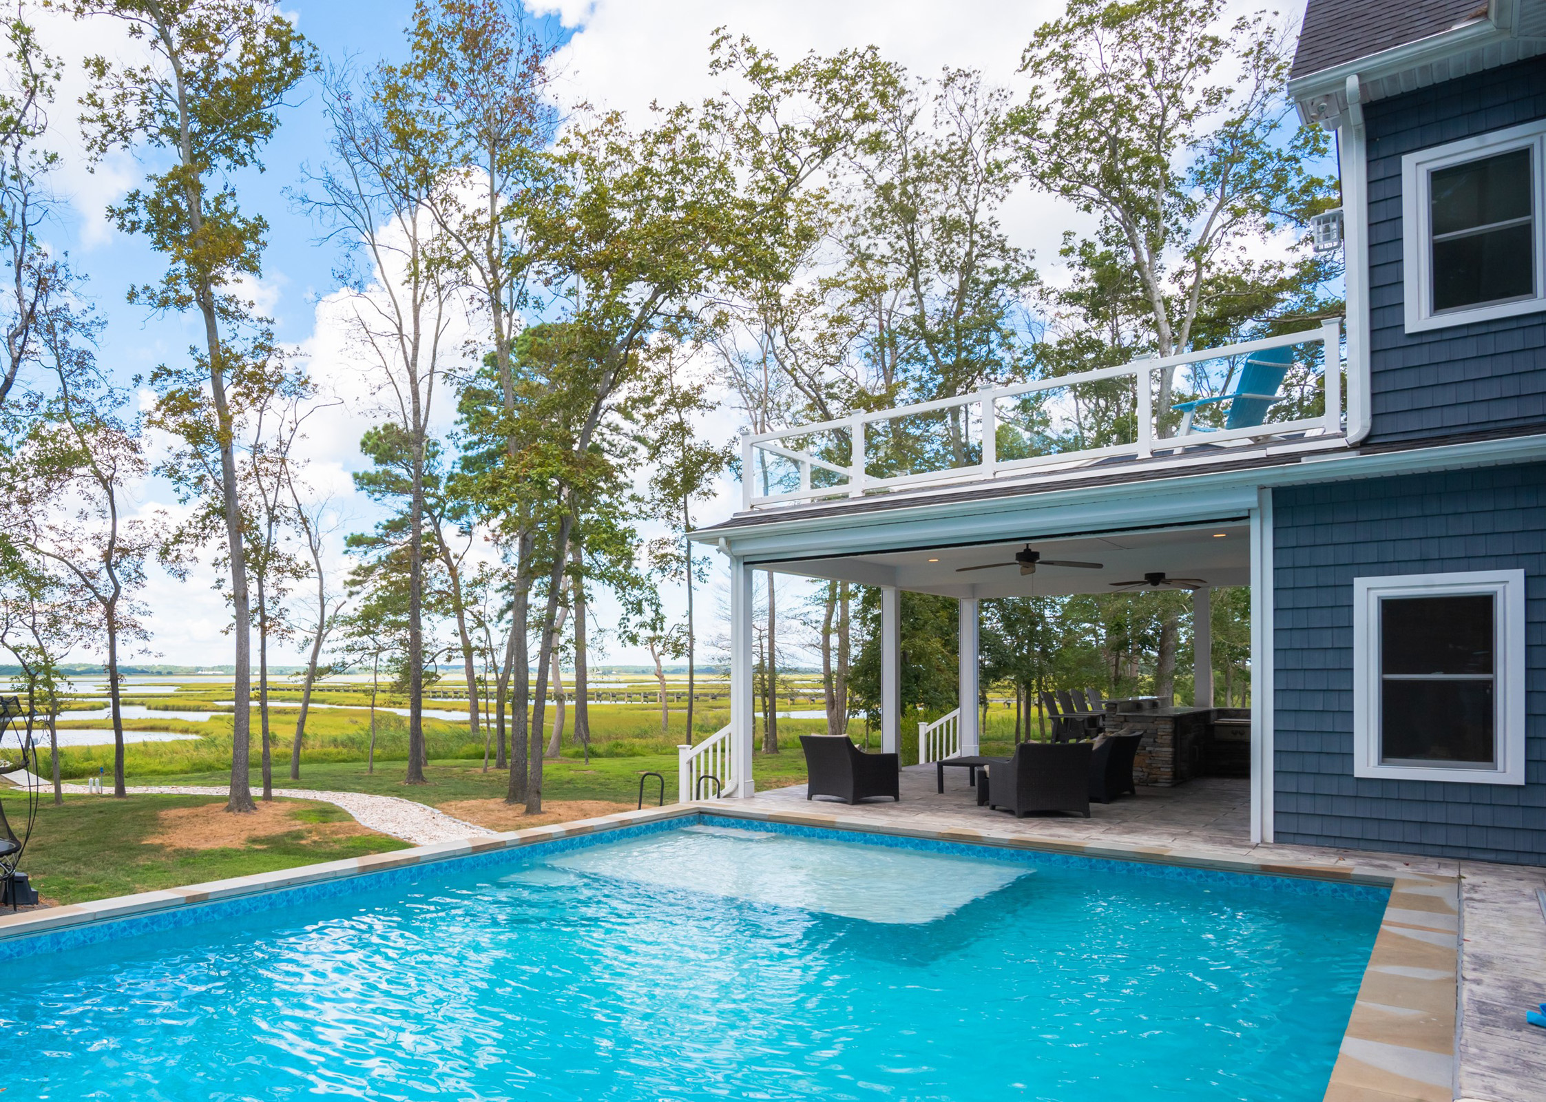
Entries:
POLYGON ((1274 770, 1280 842, 1546 864, 1546 464, 1280 488, 1274 770), (1524 570, 1526 784, 1353 776, 1353 580, 1524 570))

